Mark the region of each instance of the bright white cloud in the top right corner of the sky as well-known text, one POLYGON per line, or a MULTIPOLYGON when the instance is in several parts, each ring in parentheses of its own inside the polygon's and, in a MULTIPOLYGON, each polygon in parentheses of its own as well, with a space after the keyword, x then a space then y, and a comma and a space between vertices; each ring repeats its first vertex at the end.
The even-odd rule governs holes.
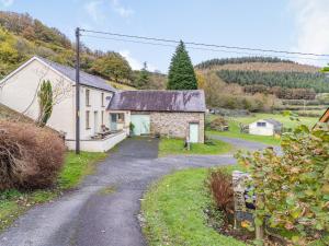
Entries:
MULTIPOLYGON (((296 26, 296 44, 292 47, 293 50, 329 54, 328 0, 290 0, 290 9, 296 26)), ((322 66, 325 62, 313 63, 322 66)))

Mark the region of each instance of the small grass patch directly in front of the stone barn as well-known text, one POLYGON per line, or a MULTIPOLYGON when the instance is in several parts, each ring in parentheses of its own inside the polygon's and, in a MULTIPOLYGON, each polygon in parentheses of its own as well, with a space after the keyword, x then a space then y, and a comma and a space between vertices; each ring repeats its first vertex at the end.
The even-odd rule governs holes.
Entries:
POLYGON ((213 140, 213 144, 192 143, 191 150, 184 149, 184 140, 162 138, 159 144, 159 156, 170 154, 223 154, 232 150, 229 143, 213 140))

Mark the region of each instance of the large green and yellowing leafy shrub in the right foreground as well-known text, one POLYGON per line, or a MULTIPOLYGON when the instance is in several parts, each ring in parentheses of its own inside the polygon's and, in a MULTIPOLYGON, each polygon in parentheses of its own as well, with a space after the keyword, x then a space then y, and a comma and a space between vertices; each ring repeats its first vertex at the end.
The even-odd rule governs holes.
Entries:
POLYGON ((329 232, 329 128, 299 126, 282 140, 283 155, 273 149, 241 155, 256 187, 256 225, 265 216, 271 227, 297 233, 306 245, 329 232))

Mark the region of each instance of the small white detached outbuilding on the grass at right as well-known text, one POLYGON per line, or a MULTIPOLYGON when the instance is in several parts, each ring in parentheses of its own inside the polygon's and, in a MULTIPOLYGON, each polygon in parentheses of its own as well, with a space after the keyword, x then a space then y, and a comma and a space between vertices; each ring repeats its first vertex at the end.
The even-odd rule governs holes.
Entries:
POLYGON ((259 119, 249 124, 250 134, 273 136, 280 133, 282 124, 275 119, 259 119))

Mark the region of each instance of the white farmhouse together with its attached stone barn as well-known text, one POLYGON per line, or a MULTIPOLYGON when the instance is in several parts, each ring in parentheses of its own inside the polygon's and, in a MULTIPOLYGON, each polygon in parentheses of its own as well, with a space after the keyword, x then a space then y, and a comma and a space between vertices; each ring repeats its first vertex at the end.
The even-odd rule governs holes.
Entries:
MULTIPOLYGON (((54 106, 47 127, 76 147, 76 70, 33 57, 0 81, 0 104, 39 117, 38 91, 50 81, 54 106)), ((80 148, 104 152, 132 133, 204 142, 205 96, 191 91, 116 91, 102 78, 80 72, 80 148)))

